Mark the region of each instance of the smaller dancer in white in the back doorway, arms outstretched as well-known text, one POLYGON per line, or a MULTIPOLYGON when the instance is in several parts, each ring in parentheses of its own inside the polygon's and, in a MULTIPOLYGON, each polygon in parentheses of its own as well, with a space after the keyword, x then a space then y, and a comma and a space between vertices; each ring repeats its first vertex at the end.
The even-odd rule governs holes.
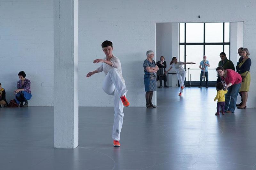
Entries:
POLYGON ((174 68, 174 70, 176 71, 177 77, 178 77, 178 80, 179 80, 179 83, 180 83, 179 96, 181 96, 181 93, 183 92, 183 89, 185 88, 184 81, 185 81, 185 78, 186 78, 186 71, 182 67, 184 64, 196 64, 196 63, 192 63, 192 62, 184 63, 184 62, 181 62, 181 61, 178 62, 176 57, 172 57, 172 61, 170 63, 171 67, 166 72, 164 72, 164 74, 166 74, 172 68, 174 68))

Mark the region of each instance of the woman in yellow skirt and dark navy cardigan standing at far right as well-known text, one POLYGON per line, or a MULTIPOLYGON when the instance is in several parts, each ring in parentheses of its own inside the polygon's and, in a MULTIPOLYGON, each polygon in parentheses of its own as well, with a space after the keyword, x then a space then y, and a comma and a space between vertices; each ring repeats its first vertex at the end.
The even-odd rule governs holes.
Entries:
POLYGON ((241 88, 239 92, 242 92, 242 98, 243 102, 242 104, 239 104, 237 109, 246 109, 246 102, 248 98, 248 91, 250 89, 250 83, 251 83, 251 74, 250 74, 250 68, 252 61, 249 58, 249 50, 247 48, 242 49, 242 57, 243 60, 238 65, 238 74, 242 77, 241 82, 241 88))

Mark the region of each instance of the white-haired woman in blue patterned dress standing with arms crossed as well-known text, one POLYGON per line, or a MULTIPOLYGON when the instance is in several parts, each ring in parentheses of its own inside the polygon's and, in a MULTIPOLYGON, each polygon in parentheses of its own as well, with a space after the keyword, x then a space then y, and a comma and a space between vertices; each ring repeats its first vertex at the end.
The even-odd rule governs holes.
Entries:
POLYGON ((144 85, 146 91, 146 107, 147 108, 156 108, 152 104, 153 92, 156 91, 156 72, 159 69, 156 65, 156 62, 153 60, 154 52, 148 50, 147 59, 143 63, 144 67, 144 85))

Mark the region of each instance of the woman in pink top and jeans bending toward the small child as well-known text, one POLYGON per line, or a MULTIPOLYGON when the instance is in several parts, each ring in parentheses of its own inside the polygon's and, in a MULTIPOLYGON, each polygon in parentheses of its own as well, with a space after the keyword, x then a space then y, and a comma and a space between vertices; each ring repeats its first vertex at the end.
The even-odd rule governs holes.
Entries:
POLYGON ((220 75, 225 90, 225 112, 234 113, 236 109, 236 98, 241 87, 242 77, 232 69, 224 69, 223 67, 216 68, 217 73, 220 75))

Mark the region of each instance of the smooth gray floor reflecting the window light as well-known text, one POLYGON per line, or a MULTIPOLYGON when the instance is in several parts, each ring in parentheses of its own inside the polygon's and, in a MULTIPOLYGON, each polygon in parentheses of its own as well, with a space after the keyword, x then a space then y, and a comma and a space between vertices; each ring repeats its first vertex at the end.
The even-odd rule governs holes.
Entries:
POLYGON ((52 107, 0 108, 0 169, 256 170, 256 109, 215 116, 215 95, 158 89, 156 109, 124 109, 120 148, 112 146, 112 107, 79 108, 76 149, 53 149, 52 107))

